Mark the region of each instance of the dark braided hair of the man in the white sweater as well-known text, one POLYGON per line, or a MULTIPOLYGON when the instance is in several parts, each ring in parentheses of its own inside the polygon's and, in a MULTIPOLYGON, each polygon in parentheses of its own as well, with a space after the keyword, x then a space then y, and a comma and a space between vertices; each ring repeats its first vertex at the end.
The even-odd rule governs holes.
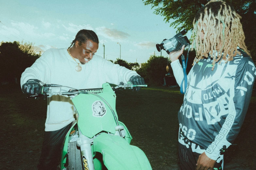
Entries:
POLYGON ((78 31, 76 38, 72 41, 70 47, 73 44, 75 44, 76 41, 79 42, 79 46, 80 46, 80 45, 82 45, 82 43, 86 43, 87 40, 92 40, 95 43, 99 43, 98 36, 96 35, 96 33, 94 31, 83 29, 83 30, 78 31))

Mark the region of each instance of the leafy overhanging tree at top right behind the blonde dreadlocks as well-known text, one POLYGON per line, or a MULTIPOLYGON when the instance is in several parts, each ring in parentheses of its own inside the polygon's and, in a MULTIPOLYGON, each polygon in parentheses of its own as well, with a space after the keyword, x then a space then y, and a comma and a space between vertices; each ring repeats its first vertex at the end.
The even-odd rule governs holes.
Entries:
MULTIPOLYGON (((187 31, 193 29, 193 20, 196 13, 210 0, 142 0, 145 5, 151 5, 154 13, 164 16, 170 26, 177 28, 177 33, 182 29, 187 31), (174 21, 172 21, 174 20, 174 21)), ((256 1, 255 0, 224 0, 229 2, 241 15, 241 23, 246 37, 246 45, 251 55, 256 55, 256 32, 253 25, 256 25, 256 1)))

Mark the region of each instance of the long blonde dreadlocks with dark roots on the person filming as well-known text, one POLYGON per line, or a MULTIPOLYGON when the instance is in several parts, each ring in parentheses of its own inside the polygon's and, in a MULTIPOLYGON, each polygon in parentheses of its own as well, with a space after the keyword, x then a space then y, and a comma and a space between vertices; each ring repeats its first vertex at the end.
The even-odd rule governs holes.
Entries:
POLYGON ((193 21, 193 42, 191 50, 196 50, 194 62, 198 63, 203 57, 211 54, 213 68, 221 60, 232 61, 237 51, 237 46, 242 48, 249 56, 245 45, 245 35, 240 19, 232 6, 221 0, 211 0, 197 12, 193 21), (203 41, 201 31, 204 32, 203 41), (216 55, 217 53, 217 55, 216 55), (228 56, 227 56, 228 54, 228 56))

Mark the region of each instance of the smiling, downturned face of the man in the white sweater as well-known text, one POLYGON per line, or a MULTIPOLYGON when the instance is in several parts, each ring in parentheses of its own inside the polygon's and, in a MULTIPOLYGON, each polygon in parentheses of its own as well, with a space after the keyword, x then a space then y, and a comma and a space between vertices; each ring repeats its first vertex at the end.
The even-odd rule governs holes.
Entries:
POLYGON ((87 40, 86 43, 79 45, 79 42, 76 42, 76 58, 80 61, 81 64, 86 64, 92 60, 94 54, 99 48, 99 44, 93 42, 92 40, 87 40))

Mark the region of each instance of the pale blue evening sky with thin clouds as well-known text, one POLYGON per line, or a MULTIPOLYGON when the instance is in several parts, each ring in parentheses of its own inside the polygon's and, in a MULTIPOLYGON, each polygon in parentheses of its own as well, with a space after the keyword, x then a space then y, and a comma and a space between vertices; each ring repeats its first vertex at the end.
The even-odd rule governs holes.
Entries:
POLYGON ((103 57, 104 43, 105 58, 116 60, 120 43, 129 63, 160 55, 155 44, 177 31, 142 0, 0 0, 0 11, 0 41, 32 42, 45 51, 67 48, 79 30, 90 29, 99 37, 97 55, 103 57))

